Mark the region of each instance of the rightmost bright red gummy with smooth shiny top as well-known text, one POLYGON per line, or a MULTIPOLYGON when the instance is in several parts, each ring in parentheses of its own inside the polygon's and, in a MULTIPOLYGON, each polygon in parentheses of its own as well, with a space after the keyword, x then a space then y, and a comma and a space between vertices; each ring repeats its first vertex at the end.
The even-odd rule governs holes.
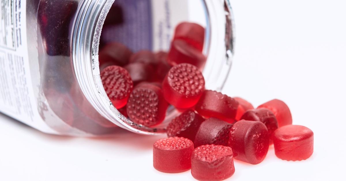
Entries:
POLYGON ((275 155, 288 161, 308 159, 313 153, 313 132, 300 125, 286 125, 275 130, 275 155))

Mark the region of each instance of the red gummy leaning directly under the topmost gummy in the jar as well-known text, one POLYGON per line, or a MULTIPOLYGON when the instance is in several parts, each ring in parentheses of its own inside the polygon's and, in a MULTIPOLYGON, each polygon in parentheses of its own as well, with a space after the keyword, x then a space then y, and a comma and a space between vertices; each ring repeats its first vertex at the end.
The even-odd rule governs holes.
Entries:
POLYGON ((171 65, 189 63, 197 66, 199 70, 202 70, 206 61, 206 56, 185 41, 180 39, 172 41, 171 49, 168 53, 168 62, 171 65))

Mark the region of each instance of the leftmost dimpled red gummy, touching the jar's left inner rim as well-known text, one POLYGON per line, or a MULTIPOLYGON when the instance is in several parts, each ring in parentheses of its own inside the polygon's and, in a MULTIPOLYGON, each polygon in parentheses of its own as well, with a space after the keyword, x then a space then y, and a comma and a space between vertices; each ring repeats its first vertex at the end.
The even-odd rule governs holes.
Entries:
POLYGON ((133 89, 133 82, 127 70, 112 65, 106 67, 100 76, 103 88, 113 106, 117 109, 124 107, 133 89))

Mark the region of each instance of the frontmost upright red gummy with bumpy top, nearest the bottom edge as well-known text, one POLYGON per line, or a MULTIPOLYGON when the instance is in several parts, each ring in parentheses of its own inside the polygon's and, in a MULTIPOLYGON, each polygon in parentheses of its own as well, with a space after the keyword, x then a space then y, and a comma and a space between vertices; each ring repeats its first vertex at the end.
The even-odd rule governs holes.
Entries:
POLYGON ((191 174, 197 180, 224 180, 235 172, 232 148, 202 145, 195 148, 191 158, 191 174))

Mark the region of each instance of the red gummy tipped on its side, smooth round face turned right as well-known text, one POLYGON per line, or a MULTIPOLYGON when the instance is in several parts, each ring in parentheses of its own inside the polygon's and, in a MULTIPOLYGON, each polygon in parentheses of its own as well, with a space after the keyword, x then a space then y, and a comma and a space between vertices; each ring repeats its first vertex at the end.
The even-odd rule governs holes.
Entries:
POLYGON ((238 121, 230 130, 229 146, 235 159, 250 164, 261 163, 269 148, 268 130, 259 121, 238 121))

